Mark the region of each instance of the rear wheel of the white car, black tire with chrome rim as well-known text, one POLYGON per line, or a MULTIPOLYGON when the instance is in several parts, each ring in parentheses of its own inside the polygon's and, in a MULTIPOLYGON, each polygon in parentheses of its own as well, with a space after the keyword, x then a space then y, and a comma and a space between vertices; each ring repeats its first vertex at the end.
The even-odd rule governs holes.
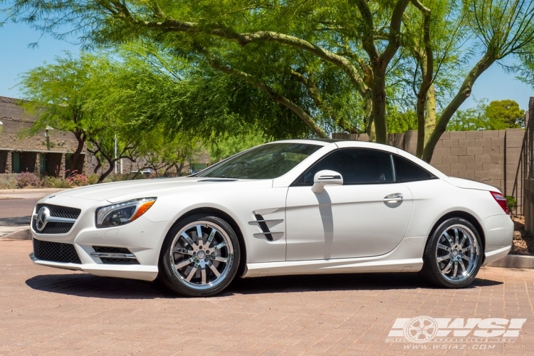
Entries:
POLYGON ((482 241, 475 226, 466 219, 451 218, 439 224, 429 236, 420 274, 434 286, 464 288, 476 278, 482 259, 482 241))

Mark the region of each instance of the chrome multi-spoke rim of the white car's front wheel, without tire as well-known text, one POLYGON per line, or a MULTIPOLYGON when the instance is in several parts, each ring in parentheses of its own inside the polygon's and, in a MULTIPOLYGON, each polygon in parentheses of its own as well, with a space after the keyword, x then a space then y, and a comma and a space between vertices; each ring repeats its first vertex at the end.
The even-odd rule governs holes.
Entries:
POLYGON ((224 281, 234 261, 234 246, 221 226, 195 221, 174 236, 169 258, 179 281, 204 290, 224 281))

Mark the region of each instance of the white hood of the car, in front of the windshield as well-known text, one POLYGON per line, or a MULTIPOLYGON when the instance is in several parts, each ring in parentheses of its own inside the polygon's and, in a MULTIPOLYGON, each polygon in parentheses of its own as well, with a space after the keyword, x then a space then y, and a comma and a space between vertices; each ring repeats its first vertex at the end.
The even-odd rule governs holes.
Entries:
POLYGON ((112 203, 123 201, 125 199, 135 199, 132 197, 157 197, 162 194, 173 194, 179 190, 187 189, 226 189, 227 184, 261 184, 272 185, 271 180, 248 180, 248 179, 216 179, 216 178, 197 178, 197 177, 179 177, 165 179, 138 179, 124 182, 112 182, 104 184, 94 184, 87 187, 68 189, 56 195, 63 197, 73 197, 92 200, 107 200, 112 203), (214 187, 214 185, 216 186, 214 187))

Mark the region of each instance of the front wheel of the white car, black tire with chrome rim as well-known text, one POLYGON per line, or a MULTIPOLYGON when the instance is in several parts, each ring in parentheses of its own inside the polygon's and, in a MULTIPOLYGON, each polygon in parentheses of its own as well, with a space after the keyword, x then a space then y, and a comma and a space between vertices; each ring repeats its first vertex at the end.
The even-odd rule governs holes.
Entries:
POLYGON ((220 293, 231 283, 239 268, 240 256, 239 240, 234 229, 226 221, 207 214, 189 216, 174 225, 165 237, 159 256, 158 279, 175 293, 188 297, 208 297, 220 293), (198 236, 197 226, 201 226, 203 234, 201 242, 198 238, 195 239, 195 236, 198 236), (207 233, 214 230, 216 232, 212 237, 213 240, 208 244, 210 234, 207 233), (189 236, 191 239, 189 242, 193 244, 189 244, 187 239, 182 237, 182 232, 189 236), (221 246, 221 242, 224 242, 224 246, 216 249, 217 246, 221 246), (173 252, 171 255, 171 249, 179 252, 173 252), (216 253, 221 254, 215 256, 216 253), (191 259, 194 261, 179 267, 191 259), (224 259, 226 263, 222 262, 224 259), (197 270, 193 271, 194 268, 197 270), (213 268, 218 270, 219 276, 214 273, 213 268))

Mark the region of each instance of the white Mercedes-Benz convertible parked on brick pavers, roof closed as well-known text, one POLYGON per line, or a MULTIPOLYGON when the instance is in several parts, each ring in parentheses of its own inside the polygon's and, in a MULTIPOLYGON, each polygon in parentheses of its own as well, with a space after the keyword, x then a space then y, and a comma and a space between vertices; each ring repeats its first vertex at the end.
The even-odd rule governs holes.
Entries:
POLYGON ((158 278, 189 296, 236 277, 417 272, 467 286, 510 251, 498 189, 369 142, 288 140, 194 176, 70 189, 38 201, 31 259, 158 278))

